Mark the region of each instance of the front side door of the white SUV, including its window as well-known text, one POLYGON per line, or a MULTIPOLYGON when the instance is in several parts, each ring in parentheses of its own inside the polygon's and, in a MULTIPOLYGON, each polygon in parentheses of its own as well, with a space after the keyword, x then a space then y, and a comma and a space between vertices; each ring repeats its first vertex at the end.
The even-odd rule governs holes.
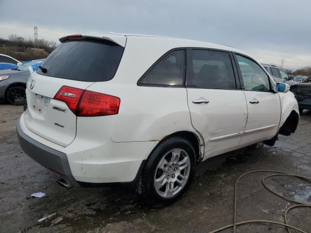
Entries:
POLYGON ((266 72, 249 57, 235 54, 248 116, 240 147, 271 139, 277 132, 281 104, 266 72))

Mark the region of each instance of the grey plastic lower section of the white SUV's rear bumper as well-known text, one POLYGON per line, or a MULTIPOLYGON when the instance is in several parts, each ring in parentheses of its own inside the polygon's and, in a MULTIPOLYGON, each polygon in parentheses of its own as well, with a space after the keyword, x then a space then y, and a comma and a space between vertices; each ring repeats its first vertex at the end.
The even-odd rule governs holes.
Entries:
POLYGON ((52 170, 63 180, 69 183, 69 187, 79 186, 71 174, 67 155, 63 152, 43 145, 26 135, 20 127, 19 120, 20 118, 17 119, 16 129, 21 149, 37 163, 52 170))

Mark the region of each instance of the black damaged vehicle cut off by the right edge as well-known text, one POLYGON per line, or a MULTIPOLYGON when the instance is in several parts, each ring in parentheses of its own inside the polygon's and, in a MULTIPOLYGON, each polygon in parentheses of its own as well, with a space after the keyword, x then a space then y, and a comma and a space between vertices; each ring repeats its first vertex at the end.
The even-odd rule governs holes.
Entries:
MULTIPOLYGON (((309 77, 311 78, 311 76, 309 77)), ((298 102, 299 113, 304 109, 311 110, 311 83, 299 83, 291 86, 291 92, 294 93, 298 102)))

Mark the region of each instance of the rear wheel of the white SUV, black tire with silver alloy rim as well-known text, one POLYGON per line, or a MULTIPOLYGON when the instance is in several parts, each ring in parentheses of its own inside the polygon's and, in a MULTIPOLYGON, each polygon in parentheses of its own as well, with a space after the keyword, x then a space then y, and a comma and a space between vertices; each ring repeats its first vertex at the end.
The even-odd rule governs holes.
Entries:
POLYGON ((138 193, 153 207, 172 204, 189 188, 195 158, 195 150, 186 138, 165 139, 150 154, 138 182, 138 193))

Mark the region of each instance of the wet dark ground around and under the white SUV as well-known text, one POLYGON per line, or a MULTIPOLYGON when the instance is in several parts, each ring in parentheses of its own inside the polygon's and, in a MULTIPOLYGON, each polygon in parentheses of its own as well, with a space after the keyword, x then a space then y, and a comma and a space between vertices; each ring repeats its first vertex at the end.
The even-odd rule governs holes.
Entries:
MULTIPOLYGON (((208 159, 198 166, 190 189, 175 204, 162 209, 146 206, 121 185, 65 189, 51 171, 20 149, 15 124, 22 106, 0 103, 0 232, 209 232, 233 221, 236 179, 252 170, 278 170, 311 178, 311 112, 305 111, 295 134, 280 136, 274 147, 250 147, 208 159), (43 198, 31 198, 44 192, 43 198), (51 218, 38 222, 42 216, 51 218), (61 219, 61 220, 60 220, 61 219), (60 221, 59 221, 60 220, 60 221)), ((237 220, 283 222, 294 205, 267 191, 261 179, 268 173, 242 178, 238 188, 237 220)), ((272 177, 269 187, 295 200, 311 203, 311 184, 290 177, 272 177)), ((290 212, 289 223, 311 232, 311 208, 290 212)), ((232 229, 223 233, 232 232, 232 229)), ((237 232, 286 230, 272 224, 239 226, 237 232)), ((294 231, 292 231, 294 233, 294 231)))

